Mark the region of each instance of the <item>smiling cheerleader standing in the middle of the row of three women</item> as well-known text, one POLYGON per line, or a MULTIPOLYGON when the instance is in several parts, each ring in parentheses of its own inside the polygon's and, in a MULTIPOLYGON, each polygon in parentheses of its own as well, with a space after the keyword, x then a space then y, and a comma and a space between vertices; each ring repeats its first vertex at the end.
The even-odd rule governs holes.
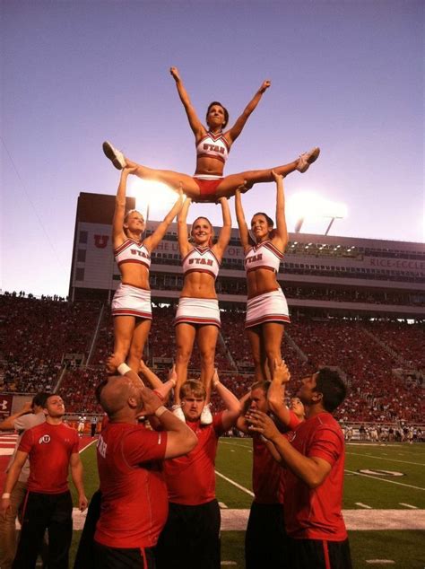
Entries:
POLYGON ((206 390, 201 423, 212 423, 208 403, 211 395, 211 381, 214 374, 215 345, 220 329, 220 311, 215 279, 217 278, 221 258, 230 241, 231 219, 228 201, 220 198, 223 225, 219 238, 212 245, 212 224, 206 217, 198 217, 190 232, 192 244, 187 235, 187 211, 190 198, 186 199, 178 215, 178 246, 183 258, 183 289, 178 301, 178 310, 174 324, 176 326, 176 373, 175 414, 185 420, 180 407, 180 387, 187 379, 187 365, 192 355, 195 339, 201 355, 201 381, 206 390))

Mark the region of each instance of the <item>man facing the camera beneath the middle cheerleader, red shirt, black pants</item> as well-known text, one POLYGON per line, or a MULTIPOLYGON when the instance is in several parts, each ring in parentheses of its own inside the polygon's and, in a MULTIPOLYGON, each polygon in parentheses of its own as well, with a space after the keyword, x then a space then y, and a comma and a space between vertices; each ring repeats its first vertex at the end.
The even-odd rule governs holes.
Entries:
POLYGON ((236 425, 239 400, 219 380, 212 378, 226 407, 212 416, 211 425, 201 425, 205 389, 200 381, 188 380, 180 389, 186 425, 196 433, 195 449, 180 459, 165 460, 164 474, 169 493, 169 518, 160 534, 156 551, 157 569, 220 569, 220 508, 215 498, 214 463, 218 440, 236 425))

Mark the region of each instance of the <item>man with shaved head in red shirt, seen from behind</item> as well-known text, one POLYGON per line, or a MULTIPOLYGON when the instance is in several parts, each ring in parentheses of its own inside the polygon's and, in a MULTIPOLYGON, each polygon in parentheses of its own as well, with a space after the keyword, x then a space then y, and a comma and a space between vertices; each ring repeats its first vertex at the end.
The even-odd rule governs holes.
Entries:
POLYGON ((100 519, 94 535, 99 569, 151 569, 153 550, 168 514, 167 487, 161 460, 195 448, 195 433, 143 386, 130 368, 118 372, 98 391, 108 425, 98 441, 100 519), (156 417, 161 431, 138 425, 140 416, 156 417))

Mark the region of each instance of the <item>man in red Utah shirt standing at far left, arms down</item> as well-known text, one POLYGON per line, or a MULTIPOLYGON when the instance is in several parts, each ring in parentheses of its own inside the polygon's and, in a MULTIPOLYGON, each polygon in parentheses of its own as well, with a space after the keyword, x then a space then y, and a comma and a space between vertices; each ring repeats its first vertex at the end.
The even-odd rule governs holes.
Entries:
POLYGON ((49 569, 67 569, 68 552, 73 538, 73 501, 67 480, 70 467, 80 510, 87 507, 82 485, 82 462, 78 452, 79 437, 74 429, 63 423, 63 399, 57 394, 50 395, 43 411, 46 422, 24 433, 4 483, 1 505, 3 513, 10 507, 10 495, 25 460, 30 459, 21 538, 13 569, 35 567, 45 530, 48 530, 49 569))

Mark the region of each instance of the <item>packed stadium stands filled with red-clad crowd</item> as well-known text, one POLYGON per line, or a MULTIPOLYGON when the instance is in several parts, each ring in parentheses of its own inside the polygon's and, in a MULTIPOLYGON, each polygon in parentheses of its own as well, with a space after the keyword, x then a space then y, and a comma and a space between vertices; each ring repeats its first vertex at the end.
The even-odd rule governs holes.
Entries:
MULTIPOLYGON (((243 311, 221 311, 216 364, 239 397, 252 383, 252 359, 243 311)), ((153 309, 146 348, 161 379, 175 347, 173 307, 153 309)), ((104 376, 113 347, 113 322, 100 302, 65 302, 25 295, 0 296, 0 390, 33 393, 59 390, 69 413, 100 413, 93 390, 104 376), (88 366, 86 367, 86 365, 88 366)), ((282 355, 290 366, 290 393, 299 378, 319 366, 339 368, 350 396, 339 410, 344 422, 419 424, 425 373, 425 328, 406 321, 299 316, 286 328, 282 355)), ((191 374, 199 372, 194 351, 191 374)))

